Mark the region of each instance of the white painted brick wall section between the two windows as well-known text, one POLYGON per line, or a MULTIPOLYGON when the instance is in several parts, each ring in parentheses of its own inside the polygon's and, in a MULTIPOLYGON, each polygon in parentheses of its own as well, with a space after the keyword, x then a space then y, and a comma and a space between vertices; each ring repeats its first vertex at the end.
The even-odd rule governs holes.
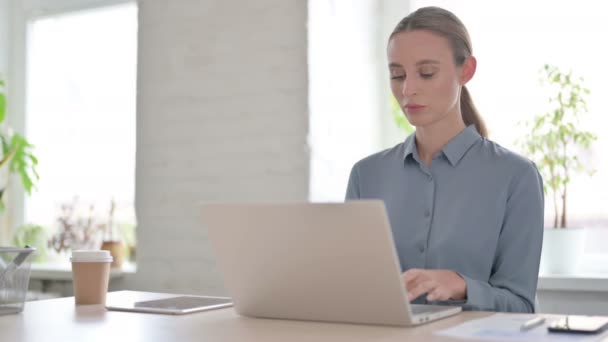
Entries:
POLYGON ((140 1, 135 289, 222 293, 197 203, 306 200, 307 2, 140 1))

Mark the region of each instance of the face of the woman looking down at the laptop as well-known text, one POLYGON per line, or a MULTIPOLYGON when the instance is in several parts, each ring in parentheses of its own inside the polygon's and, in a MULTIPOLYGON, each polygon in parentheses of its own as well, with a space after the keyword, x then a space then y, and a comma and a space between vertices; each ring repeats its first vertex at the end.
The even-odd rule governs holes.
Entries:
POLYGON ((393 36, 388 44, 388 63, 391 90, 413 126, 460 116, 460 90, 473 76, 470 64, 474 73, 474 58, 457 67, 447 39, 418 30, 393 36))

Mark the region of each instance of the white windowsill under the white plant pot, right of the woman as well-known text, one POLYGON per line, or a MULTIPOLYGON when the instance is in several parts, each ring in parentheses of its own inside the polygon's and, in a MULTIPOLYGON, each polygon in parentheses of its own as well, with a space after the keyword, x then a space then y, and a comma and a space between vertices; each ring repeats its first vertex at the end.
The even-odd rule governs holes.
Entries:
POLYGON ((608 274, 544 274, 538 277, 538 290, 608 292, 608 274))

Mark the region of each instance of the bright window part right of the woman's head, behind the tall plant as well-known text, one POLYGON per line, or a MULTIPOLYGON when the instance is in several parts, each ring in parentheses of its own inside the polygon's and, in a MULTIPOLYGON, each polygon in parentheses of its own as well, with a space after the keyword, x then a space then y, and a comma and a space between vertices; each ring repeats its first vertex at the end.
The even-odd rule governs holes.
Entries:
MULTIPOLYGON (((517 125, 547 109, 547 95, 539 83, 545 63, 564 71, 572 70, 585 79, 590 89, 589 112, 583 128, 598 137, 591 153, 583 156, 595 174, 577 174, 568 187, 569 226, 587 228, 587 256, 605 253, 608 239, 608 98, 605 80, 608 47, 588 39, 589 32, 604 32, 608 24, 601 18, 602 7, 594 2, 516 0, 503 3, 482 1, 412 1, 412 10, 441 6, 456 13, 465 23, 478 60, 470 83, 473 99, 486 120, 490 138, 518 151, 515 144, 525 134, 517 125), (567 22, 568 25, 564 25, 567 22)), ((552 226, 553 207, 546 198, 545 225, 552 226)), ((587 262, 583 269, 598 270, 587 262)))

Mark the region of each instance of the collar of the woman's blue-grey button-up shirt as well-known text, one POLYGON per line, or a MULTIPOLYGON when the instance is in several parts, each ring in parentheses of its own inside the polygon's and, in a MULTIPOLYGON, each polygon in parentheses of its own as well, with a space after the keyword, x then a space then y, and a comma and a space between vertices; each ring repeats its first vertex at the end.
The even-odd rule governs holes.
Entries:
MULTIPOLYGON (((475 125, 469 125, 450 140, 442 149, 443 154, 452 166, 456 166, 465 153, 481 138, 475 125)), ((409 155, 415 160, 419 160, 418 149, 416 148, 416 133, 410 134, 403 143, 403 159, 409 155)))

